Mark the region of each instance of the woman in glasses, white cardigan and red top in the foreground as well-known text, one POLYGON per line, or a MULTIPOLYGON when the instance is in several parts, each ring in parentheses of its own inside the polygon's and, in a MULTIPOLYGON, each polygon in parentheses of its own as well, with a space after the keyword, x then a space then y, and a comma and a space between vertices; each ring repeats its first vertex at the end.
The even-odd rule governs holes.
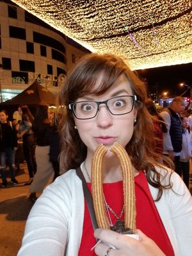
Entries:
MULTIPOLYGON (((150 239, 154 241, 150 248, 143 248, 141 241, 129 239, 131 255, 151 255, 151 250, 156 255, 191 255, 191 195, 177 173, 156 161, 153 138, 148 136, 153 124, 145 108, 146 97, 145 85, 121 58, 88 54, 78 61, 60 93, 60 104, 67 108, 61 130, 61 165, 68 171, 36 201, 26 223, 19 256, 33 255, 34 251, 36 255, 48 256, 89 256, 96 255, 95 252, 100 256, 122 255, 118 254, 118 246, 109 250, 109 245, 101 243, 98 246, 104 250, 96 247, 95 252, 91 251, 96 240, 82 182, 74 170, 81 166, 91 189, 95 149, 100 143, 108 149, 102 165, 104 196, 111 209, 108 208, 108 217, 111 225, 117 219, 123 220, 122 172, 118 159, 109 151, 115 141, 131 157, 136 227, 147 235, 148 243, 150 239)), ((130 255, 129 251, 126 253, 130 255)))

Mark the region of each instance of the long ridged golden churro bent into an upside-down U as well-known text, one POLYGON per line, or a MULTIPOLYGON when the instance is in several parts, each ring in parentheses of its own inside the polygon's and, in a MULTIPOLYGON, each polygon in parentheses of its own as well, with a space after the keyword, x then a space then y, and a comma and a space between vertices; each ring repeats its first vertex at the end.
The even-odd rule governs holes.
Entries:
MULTIPOLYGON (((134 232, 136 228, 136 205, 134 193, 134 177, 132 173, 131 159, 128 156, 124 147, 118 143, 114 143, 110 148, 111 152, 116 154, 120 161, 123 177, 124 189, 124 227, 125 229, 134 232)), ((92 160, 92 196, 93 207, 99 228, 110 228, 109 221, 106 215, 106 205, 104 202, 104 193, 102 189, 102 161, 107 149, 100 144, 95 150, 92 160)))

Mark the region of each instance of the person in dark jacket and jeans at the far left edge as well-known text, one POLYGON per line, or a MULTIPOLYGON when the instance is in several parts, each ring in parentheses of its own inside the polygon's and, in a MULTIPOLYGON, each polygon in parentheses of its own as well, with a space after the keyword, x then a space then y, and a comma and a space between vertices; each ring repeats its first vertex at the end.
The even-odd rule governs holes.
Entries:
POLYGON ((17 150, 17 135, 15 129, 12 127, 12 122, 8 120, 8 113, 6 110, 0 111, 0 125, 1 125, 1 143, 0 143, 0 161, 1 161, 1 179, 3 181, 2 187, 8 185, 6 180, 6 163, 10 168, 11 183, 18 184, 15 179, 15 150, 17 150))

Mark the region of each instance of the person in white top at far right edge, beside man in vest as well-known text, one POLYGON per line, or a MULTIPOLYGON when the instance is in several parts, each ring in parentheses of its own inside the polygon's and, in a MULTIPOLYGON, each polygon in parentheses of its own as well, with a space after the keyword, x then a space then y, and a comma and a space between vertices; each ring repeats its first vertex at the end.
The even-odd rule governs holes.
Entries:
POLYGON ((182 150, 180 152, 180 168, 184 183, 189 188, 189 159, 191 159, 192 133, 189 128, 188 118, 181 116, 182 121, 182 150))

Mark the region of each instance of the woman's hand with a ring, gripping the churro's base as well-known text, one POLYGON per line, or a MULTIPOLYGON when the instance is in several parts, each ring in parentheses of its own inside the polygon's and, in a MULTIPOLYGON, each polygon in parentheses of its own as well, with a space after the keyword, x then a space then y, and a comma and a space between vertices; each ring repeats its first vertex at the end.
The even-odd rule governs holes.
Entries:
POLYGON ((118 234, 111 230, 98 228, 94 232, 94 236, 102 241, 95 246, 95 253, 99 256, 166 256, 157 244, 141 232, 136 230, 140 241, 122 234, 118 234), (109 250, 112 244, 116 249, 109 250))

